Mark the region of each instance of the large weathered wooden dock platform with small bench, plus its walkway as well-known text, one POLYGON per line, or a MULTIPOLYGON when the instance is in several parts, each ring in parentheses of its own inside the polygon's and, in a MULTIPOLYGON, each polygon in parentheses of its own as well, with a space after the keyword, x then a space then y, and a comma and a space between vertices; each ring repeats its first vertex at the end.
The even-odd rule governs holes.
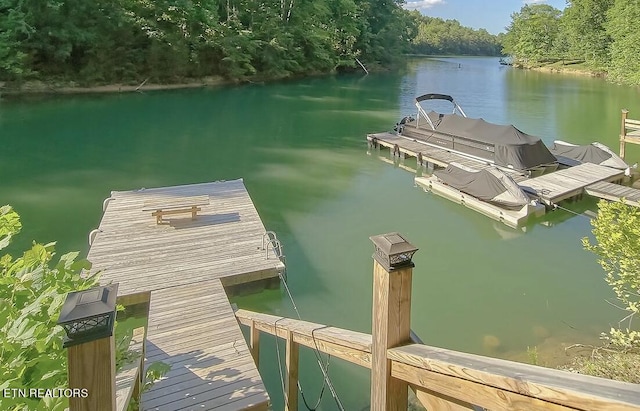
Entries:
POLYGON ((242 180, 112 192, 88 259, 123 301, 149 302, 147 364, 171 365, 142 410, 266 410, 269 396, 223 286, 277 277, 242 180), (157 220, 145 204, 202 198, 157 220), (146 298, 146 300, 145 300, 146 298))

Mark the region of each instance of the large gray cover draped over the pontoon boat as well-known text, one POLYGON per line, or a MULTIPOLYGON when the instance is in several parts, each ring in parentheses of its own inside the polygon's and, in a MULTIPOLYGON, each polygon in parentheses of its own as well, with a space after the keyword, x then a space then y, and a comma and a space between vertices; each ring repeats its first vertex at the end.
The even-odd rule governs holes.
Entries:
MULTIPOLYGON (((493 145, 493 161, 498 166, 527 170, 557 162, 539 137, 524 133, 512 125, 492 124, 481 118, 441 114, 435 111, 427 115, 438 133, 493 145)), ((420 128, 424 130, 422 124, 420 128)))

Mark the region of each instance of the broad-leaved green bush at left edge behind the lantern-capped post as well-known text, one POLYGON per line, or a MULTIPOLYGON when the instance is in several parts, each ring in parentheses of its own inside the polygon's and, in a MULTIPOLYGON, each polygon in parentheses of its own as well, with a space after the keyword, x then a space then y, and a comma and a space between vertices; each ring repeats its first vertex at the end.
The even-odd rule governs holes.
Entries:
MULTIPOLYGON (((0 249, 20 230, 18 215, 0 208, 0 249)), ((96 276, 81 276, 91 267, 68 253, 53 263, 54 243, 36 244, 19 258, 0 258, 0 389, 62 388, 67 384, 64 331, 56 325, 70 291, 90 288, 96 276)), ((0 398, 0 409, 64 409, 66 400, 0 398)))

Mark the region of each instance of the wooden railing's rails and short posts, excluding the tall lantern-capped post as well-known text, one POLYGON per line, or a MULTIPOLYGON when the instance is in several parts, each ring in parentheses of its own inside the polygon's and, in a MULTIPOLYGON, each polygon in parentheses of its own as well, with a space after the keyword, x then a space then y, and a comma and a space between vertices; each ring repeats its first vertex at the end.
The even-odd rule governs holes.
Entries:
MULTIPOLYGON (((370 334, 237 310, 250 328, 251 352, 259 357, 260 332, 371 369, 370 334)), ((296 354, 297 355, 297 354, 296 354)), ((297 398, 297 358, 288 350, 289 405, 297 398), (295 369, 294 369, 295 367, 295 369)), ((391 375, 405 381, 428 410, 640 410, 640 386, 479 355, 409 344, 387 350, 391 375)), ((293 408, 289 408, 293 411, 293 408)))

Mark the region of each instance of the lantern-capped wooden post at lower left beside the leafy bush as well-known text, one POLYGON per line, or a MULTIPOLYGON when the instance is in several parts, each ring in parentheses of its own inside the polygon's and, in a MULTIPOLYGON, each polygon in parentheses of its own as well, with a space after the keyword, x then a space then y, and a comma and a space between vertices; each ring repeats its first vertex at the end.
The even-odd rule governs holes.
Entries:
POLYGON ((67 333, 69 388, 74 390, 70 411, 115 410, 117 292, 117 284, 72 292, 62 307, 58 324, 67 333))

